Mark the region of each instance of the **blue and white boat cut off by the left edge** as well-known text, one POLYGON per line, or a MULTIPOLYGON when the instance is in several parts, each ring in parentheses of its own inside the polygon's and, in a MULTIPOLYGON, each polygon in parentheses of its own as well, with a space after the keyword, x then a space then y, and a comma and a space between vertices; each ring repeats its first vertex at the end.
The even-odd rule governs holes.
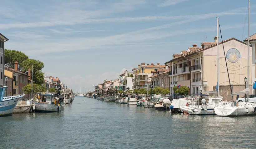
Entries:
POLYGON ((12 115, 17 102, 25 95, 3 97, 5 89, 7 89, 6 86, 0 87, 0 116, 12 115))

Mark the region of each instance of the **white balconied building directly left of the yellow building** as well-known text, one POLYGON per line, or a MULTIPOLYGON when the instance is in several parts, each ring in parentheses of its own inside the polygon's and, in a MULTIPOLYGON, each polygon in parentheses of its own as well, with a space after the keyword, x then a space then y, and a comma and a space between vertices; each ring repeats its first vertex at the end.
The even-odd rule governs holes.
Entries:
POLYGON ((134 78, 133 71, 125 71, 123 74, 119 75, 119 90, 126 90, 126 88, 130 88, 132 90, 134 78))

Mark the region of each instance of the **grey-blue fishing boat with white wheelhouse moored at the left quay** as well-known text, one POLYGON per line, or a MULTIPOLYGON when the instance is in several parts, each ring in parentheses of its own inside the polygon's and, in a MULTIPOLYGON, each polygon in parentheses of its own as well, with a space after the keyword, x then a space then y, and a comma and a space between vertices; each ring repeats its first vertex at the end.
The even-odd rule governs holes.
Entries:
POLYGON ((36 112, 59 112, 61 111, 61 104, 56 99, 53 101, 53 94, 42 93, 41 99, 35 104, 36 112))

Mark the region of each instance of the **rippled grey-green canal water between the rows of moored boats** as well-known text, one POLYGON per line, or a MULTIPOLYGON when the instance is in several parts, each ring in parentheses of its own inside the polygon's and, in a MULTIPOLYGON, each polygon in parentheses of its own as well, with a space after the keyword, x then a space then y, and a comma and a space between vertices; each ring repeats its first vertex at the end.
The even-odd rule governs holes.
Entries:
POLYGON ((255 148, 255 121, 75 97, 60 113, 0 117, 0 148, 255 148))

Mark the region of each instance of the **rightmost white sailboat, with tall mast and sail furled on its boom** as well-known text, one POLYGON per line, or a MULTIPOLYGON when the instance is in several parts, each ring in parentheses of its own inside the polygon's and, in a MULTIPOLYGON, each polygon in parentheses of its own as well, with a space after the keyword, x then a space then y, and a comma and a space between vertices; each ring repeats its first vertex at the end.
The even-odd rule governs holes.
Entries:
MULTIPOLYGON (((249 0, 249 9, 248 9, 248 57, 247 57, 247 78, 249 78, 249 51, 250 51, 250 0, 249 0)), ((247 102, 230 102, 229 104, 223 104, 218 107, 215 107, 215 113, 219 116, 245 116, 245 115, 256 115, 256 104, 248 102, 249 101, 249 79, 247 79, 247 88, 244 90, 232 93, 231 96, 247 94, 247 102)))

